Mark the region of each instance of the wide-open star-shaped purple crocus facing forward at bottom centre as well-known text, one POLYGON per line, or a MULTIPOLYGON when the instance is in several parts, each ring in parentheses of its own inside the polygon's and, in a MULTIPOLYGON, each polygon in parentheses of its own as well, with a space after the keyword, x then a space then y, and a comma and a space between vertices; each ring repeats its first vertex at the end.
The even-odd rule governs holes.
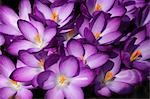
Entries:
POLYGON ((94 73, 88 68, 79 68, 78 60, 67 56, 55 65, 58 68, 53 72, 47 70, 38 76, 40 87, 48 90, 46 99, 84 99, 81 87, 89 85, 94 78, 94 73))

